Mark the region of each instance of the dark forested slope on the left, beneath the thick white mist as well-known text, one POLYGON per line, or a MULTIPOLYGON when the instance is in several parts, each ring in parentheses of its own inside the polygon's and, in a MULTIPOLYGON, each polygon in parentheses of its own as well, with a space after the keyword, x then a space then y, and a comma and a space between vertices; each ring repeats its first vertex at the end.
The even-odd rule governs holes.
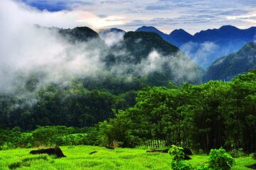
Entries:
MULTIPOLYGON (((27 83, 33 86, 31 82, 27 83)), ((133 81, 130 82, 132 84, 133 81)), ((134 105, 137 92, 132 91, 133 88, 129 89, 129 84, 120 86, 131 91, 114 95, 106 89, 89 91, 81 82, 73 82, 65 89, 49 85, 33 92, 21 88, 16 94, 0 94, 0 125, 10 128, 18 126, 24 130, 33 130, 37 125, 93 126, 112 118, 112 109, 134 105)), ((134 86, 142 88, 139 84, 134 86)))

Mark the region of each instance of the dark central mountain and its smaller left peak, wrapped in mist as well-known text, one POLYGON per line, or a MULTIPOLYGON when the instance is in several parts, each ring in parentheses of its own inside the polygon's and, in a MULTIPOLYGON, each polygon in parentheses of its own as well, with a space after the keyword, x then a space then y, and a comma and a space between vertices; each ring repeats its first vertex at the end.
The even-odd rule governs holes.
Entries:
POLYGON ((156 33, 125 33, 117 28, 96 33, 87 27, 59 29, 59 33, 70 42, 96 40, 91 48, 100 48, 102 69, 111 74, 144 79, 151 86, 201 83, 204 70, 156 33))

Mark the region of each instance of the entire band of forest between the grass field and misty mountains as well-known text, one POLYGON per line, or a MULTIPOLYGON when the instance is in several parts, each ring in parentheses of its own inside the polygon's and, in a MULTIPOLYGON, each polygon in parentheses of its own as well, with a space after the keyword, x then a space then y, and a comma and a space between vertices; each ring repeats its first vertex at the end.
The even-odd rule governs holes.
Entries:
POLYGON ((65 89, 53 84, 31 102, 2 95, 1 148, 117 142, 122 147, 179 145, 205 152, 220 147, 255 152, 255 70, 226 82, 141 85, 140 91, 112 94, 78 83, 65 89))

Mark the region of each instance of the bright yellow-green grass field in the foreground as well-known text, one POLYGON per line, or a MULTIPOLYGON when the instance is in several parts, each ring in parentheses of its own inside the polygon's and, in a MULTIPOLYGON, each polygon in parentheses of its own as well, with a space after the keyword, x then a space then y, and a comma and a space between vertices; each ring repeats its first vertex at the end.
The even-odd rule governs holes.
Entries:
MULTIPOLYGON (((46 154, 28 154, 32 149, 0 151, 0 169, 171 169, 171 156, 163 153, 146 153, 145 149, 106 149, 105 147, 60 147, 65 158, 55 159, 46 154), (97 151, 95 154, 90 152, 97 151)), ((207 162, 206 155, 193 155, 189 161, 194 166, 207 162)), ((235 159, 233 169, 248 169, 255 164, 250 157, 235 159)))

